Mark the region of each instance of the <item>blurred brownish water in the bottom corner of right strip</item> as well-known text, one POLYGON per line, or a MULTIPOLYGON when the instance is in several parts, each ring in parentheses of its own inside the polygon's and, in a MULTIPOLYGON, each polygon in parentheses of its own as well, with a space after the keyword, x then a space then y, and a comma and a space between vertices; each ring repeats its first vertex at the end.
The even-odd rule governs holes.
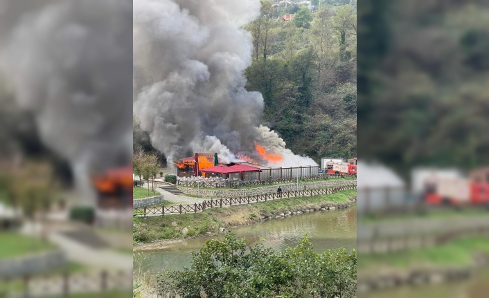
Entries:
POLYGON ((489 267, 465 281, 430 286, 404 287, 359 294, 358 298, 487 298, 489 297, 489 267))

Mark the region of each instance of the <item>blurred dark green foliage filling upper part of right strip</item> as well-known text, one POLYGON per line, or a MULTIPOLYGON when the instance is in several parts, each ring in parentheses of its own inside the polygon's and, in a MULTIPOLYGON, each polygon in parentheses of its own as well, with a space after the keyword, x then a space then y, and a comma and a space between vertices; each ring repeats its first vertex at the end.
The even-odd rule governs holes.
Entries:
POLYGON ((406 177, 419 165, 488 165, 488 2, 368 0, 362 8, 359 157, 406 177))

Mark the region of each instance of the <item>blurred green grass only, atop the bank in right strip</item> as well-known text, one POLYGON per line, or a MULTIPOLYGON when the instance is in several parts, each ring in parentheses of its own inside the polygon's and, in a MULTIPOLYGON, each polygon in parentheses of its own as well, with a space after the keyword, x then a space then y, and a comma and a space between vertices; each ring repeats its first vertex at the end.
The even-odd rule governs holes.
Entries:
POLYGON ((404 252, 358 254, 358 270, 375 272, 388 267, 407 270, 420 266, 470 266, 474 254, 489 255, 489 239, 467 236, 434 248, 416 248, 404 252))

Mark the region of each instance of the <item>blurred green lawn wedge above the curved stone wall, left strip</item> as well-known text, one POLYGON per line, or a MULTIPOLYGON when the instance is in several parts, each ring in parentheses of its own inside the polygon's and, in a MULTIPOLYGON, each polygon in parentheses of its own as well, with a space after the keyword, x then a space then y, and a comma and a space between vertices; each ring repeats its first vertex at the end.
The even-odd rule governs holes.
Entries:
POLYGON ((0 232, 0 259, 54 250, 56 245, 15 232, 0 232))

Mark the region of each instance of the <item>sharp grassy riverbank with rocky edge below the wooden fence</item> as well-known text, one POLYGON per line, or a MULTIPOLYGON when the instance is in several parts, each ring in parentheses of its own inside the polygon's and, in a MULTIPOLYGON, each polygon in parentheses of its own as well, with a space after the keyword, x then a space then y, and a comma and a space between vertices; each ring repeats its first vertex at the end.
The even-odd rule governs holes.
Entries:
MULTIPOLYGON (((220 234, 229 227, 258 223, 277 216, 291 216, 321 208, 326 210, 328 207, 347 207, 356 195, 357 191, 350 189, 321 196, 282 198, 251 205, 211 208, 197 214, 134 218, 134 250, 156 249, 168 244, 168 241, 220 234)), ((328 212, 324 210, 323 212, 328 212)))

